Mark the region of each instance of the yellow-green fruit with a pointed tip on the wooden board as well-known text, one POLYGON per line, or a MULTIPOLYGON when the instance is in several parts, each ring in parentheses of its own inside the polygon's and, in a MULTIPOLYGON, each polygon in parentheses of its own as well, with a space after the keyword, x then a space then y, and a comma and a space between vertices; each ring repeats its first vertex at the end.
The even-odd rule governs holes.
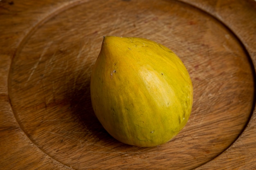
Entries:
POLYGON ((90 91, 94 113, 109 134, 141 147, 170 141, 186 125, 193 103, 179 57, 144 38, 104 37, 90 91))

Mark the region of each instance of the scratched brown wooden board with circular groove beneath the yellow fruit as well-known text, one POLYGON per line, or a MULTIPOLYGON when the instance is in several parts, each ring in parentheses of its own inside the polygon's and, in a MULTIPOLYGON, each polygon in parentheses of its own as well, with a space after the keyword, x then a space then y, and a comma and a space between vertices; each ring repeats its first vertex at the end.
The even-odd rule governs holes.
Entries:
POLYGON ((255 168, 255 30, 254 0, 2 0, 0 169, 255 168), (180 56, 194 102, 173 140, 128 146, 99 124, 89 84, 103 35, 180 56))

